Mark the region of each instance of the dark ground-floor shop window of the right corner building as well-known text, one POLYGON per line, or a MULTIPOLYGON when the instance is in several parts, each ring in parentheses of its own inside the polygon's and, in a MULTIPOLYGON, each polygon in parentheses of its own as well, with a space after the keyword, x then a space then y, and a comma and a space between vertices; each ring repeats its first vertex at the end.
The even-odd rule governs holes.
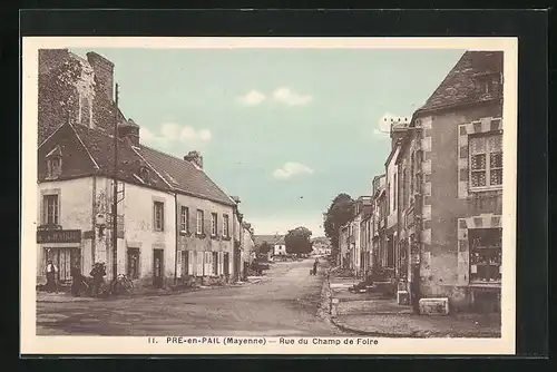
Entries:
POLYGON ((470 242, 470 282, 501 281, 501 229, 475 228, 470 242))

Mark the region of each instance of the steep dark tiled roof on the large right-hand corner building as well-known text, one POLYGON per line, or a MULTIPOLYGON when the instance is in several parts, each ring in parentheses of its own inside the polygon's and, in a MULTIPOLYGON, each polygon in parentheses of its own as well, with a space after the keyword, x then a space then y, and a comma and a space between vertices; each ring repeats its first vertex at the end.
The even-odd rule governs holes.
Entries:
POLYGON ((418 112, 497 98, 478 89, 477 77, 501 72, 502 51, 467 51, 418 112))

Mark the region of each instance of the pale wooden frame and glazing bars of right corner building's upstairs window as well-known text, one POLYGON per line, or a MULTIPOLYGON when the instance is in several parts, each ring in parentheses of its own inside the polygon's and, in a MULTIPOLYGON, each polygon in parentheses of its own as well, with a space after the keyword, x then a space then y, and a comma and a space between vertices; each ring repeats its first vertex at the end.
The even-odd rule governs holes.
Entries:
POLYGON ((481 190, 492 190, 492 189, 502 189, 502 133, 497 131, 485 131, 479 134, 473 134, 468 136, 468 177, 469 177, 469 189, 470 192, 481 192, 481 190), (490 148, 489 139, 491 137, 500 137, 501 148, 499 151, 492 151, 490 148), (483 138, 485 140, 485 149, 482 153, 472 153, 472 143, 478 138, 483 138), (492 155, 500 154, 501 156, 501 166, 500 167, 491 167, 491 158, 492 155), (472 167, 472 158, 475 156, 483 155, 485 156, 485 168, 482 169, 473 169, 472 167), (501 183, 500 184, 491 184, 491 172, 499 170, 501 173, 501 183), (473 186, 472 175, 482 173, 486 177, 486 184, 481 186, 473 186))

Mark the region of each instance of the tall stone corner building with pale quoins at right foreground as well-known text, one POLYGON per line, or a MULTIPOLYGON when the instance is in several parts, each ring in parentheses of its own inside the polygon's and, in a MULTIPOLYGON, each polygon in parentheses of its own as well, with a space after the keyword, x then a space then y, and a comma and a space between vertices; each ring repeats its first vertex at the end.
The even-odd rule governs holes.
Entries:
POLYGON ((467 51, 414 112, 397 160, 399 274, 456 311, 500 309, 502 57, 467 51))

